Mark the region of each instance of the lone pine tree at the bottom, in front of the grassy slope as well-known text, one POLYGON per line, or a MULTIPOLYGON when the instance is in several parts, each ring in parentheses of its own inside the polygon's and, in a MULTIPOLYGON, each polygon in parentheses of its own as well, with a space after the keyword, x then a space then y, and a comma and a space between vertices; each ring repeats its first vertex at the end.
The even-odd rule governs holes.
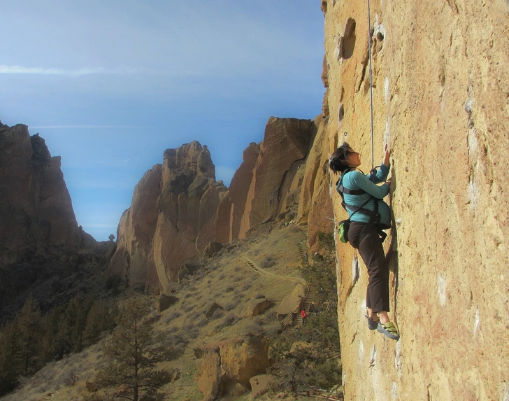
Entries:
POLYGON ((138 401, 141 393, 155 395, 157 388, 167 383, 171 376, 156 365, 169 360, 167 349, 157 346, 152 323, 145 318, 148 300, 134 298, 120 306, 117 328, 106 342, 103 352, 106 365, 99 371, 98 384, 122 386, 116 395, 138 401))

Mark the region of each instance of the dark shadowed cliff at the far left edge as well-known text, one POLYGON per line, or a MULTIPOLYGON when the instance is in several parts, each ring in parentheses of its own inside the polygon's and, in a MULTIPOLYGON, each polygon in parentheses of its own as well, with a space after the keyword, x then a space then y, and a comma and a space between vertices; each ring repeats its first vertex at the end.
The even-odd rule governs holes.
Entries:
POLYGON ((0 265, 96 245, 78 227, 60 157, 26 125, 0 123, 0 183, 0 265))

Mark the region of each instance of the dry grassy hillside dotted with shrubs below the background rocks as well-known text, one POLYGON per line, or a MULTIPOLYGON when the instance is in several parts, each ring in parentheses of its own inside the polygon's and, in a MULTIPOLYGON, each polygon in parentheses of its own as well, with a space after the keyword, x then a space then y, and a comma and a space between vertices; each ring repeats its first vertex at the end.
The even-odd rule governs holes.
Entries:
MULTIPOLYGON (((302 244, 306 241, 306 226, 281 221, 266 229, 264 234, 238 241, 228 250, 204 261, 201 269, 182 281, 172 293, 178 302, 160 313, 155 309, 150 313, 150 318, 157 322, 156 332, 162 333, 166 342, 180 344, 183 351, 180 358, 164 365, 175 372, 175 381, 163 388, 171 395, 170 399, 203 400, 196 378, 201 363, 196 358, 196 350, 207 349, 213 344, 236 344, 245 336, 262 342, 277 336, 280 321, 276 313, 282 300, 292 293, 296 283, 305 282, 301 278, 301 254, 302 244), (243 258, 248 258, 257 270, 252 269, 243 258), (248 317, 249 305, 264 300, 271 300, 271 307, 259 316, 248 317), (224 309, 207 318, 206 312, 213 302, 224 309)), ((313 283, 310 285, 313 286, 313 283)), ((123 289, 117 299, 147 296, 128 288, 123 289)), ((148 297, 151 297, 152 304, 159 298, 148 297)), ((101 363, 103 342, 104 339, 81 353, 44 367, 24 381, 20 390, 2 400, 82 400, 84 396, 99 394, 87 391, 86 384, 89 382, 88 388, 92 388, 90 383, 94 382, 101 363)), ((227 363, 226 358, 225 353, 223 363, 227 363)), ((241 360, 238 363, 242 364, 241 360)), ((242 369, 250 372, 252 365, 251 360, 242 369)), ((264 373, 264 370, 250 372, 247 377, 259 373, 264 373)), ((244 386, 233 386, 225 391, 236 395, 226 394, 222 398, 224 400, 250 399, 250 393, 244 386)))

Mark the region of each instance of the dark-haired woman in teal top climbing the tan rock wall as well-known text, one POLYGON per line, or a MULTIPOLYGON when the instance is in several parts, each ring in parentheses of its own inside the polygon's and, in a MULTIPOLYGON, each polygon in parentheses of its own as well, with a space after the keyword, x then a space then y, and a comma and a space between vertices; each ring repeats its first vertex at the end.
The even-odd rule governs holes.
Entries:
POLYGON ((361 165, 360 154, 345 142, 332 154, 329 167, 334 174, 341 173, 336 190, 340 192, 340 188, 343 188, 340 195, 343 197, 343 206, 350 217, 347 239, 355 249, 359 250, 368 269, 369 279, 366 291, 368 328, 397 340, 399 339, 398 328, 387 314, 389 312, 389 267, 382 246, 383 240, 380 238, 380 234, 385 235, 382 229, 390 227, 389 206, 382 200, 389 194, 391 183, 391 179, 387 179, 390 167, 389 156, 389 146, 385 145, 382 165, 370 179, 370 175, 357 171, 357 167, 361 165), (378 183, 384 184, 376 185, 378 183), (354 192, 354 195, 349 195, 347 192, 354 192), (367 213, 375 211, 375 202, 378 202, 376 205, 378 213, 372 213, 372 217, 367 213), (364 213, 361 209, 368 210, 364 213), (377 218, 375 214, 378 215, 377 218))

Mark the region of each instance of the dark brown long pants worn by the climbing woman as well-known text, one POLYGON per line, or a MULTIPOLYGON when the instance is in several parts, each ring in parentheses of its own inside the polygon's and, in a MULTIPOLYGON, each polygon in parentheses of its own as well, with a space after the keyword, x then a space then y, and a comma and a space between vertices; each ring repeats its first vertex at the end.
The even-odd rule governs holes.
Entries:
POLYGON ((360 241, 365 223, 352 221, 348 230, 348 240, 355 249, 359 250, 364 264, 368 268, 368 290, 366 291, 366 307, 373 313, 389 311, 389 266, 385 258, 382 239, 378 235, 375 225, 360 241))

